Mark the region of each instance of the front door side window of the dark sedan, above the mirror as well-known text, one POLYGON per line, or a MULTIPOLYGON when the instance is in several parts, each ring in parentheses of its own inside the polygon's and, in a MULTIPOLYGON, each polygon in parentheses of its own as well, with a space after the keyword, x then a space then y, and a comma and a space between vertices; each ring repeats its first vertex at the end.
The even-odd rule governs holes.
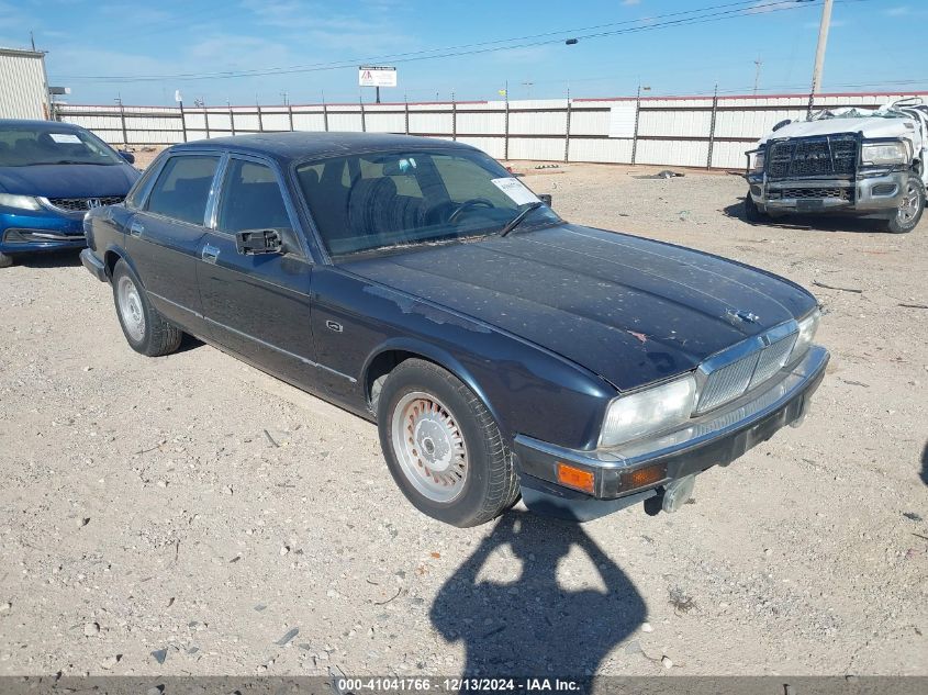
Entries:
POLYGON ((232 233, 291 227, 270 167, 245 159, 228 162, 216 223, 222 232, 232 233))

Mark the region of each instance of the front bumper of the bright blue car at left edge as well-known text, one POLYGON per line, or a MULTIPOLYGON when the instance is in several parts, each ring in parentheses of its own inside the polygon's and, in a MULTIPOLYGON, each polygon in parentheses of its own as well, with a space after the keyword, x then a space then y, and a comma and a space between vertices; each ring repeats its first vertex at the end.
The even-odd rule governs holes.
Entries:
POLYGON ((66 216, 46 210, 0 211, 0 253, 29 254, 85 246, 82 215, 66 216))

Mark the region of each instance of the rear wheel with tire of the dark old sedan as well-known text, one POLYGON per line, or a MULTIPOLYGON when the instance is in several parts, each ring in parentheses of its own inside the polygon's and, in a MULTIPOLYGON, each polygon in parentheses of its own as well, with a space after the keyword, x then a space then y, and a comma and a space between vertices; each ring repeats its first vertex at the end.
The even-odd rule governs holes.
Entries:
POLYGON ((169 355, 180 347, 183 332, 152 306, 138 277, 123 260, 113 269, 113 302, 130 347, 148 357, 169 355))

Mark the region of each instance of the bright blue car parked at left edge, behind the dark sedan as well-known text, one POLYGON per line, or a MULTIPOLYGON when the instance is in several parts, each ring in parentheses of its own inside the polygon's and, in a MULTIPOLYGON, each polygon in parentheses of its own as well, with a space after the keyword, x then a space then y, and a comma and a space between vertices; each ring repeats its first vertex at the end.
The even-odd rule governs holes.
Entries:
POLYGON ((83 215, 123 201, 138 178, 133 161, 77 125, 0 120, 0 268, 83 247, 83 215))

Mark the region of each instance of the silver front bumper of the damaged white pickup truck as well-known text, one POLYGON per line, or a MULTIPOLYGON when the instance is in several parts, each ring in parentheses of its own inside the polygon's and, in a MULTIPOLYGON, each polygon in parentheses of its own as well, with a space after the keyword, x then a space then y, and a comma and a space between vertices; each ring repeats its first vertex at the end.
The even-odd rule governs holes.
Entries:
POLYGON ((854 212, 891 214, 899 206, 908 171, 864 170, 853 179, 791 179, 771 181, 749 173, 750 195, 765 212, 854 212))

